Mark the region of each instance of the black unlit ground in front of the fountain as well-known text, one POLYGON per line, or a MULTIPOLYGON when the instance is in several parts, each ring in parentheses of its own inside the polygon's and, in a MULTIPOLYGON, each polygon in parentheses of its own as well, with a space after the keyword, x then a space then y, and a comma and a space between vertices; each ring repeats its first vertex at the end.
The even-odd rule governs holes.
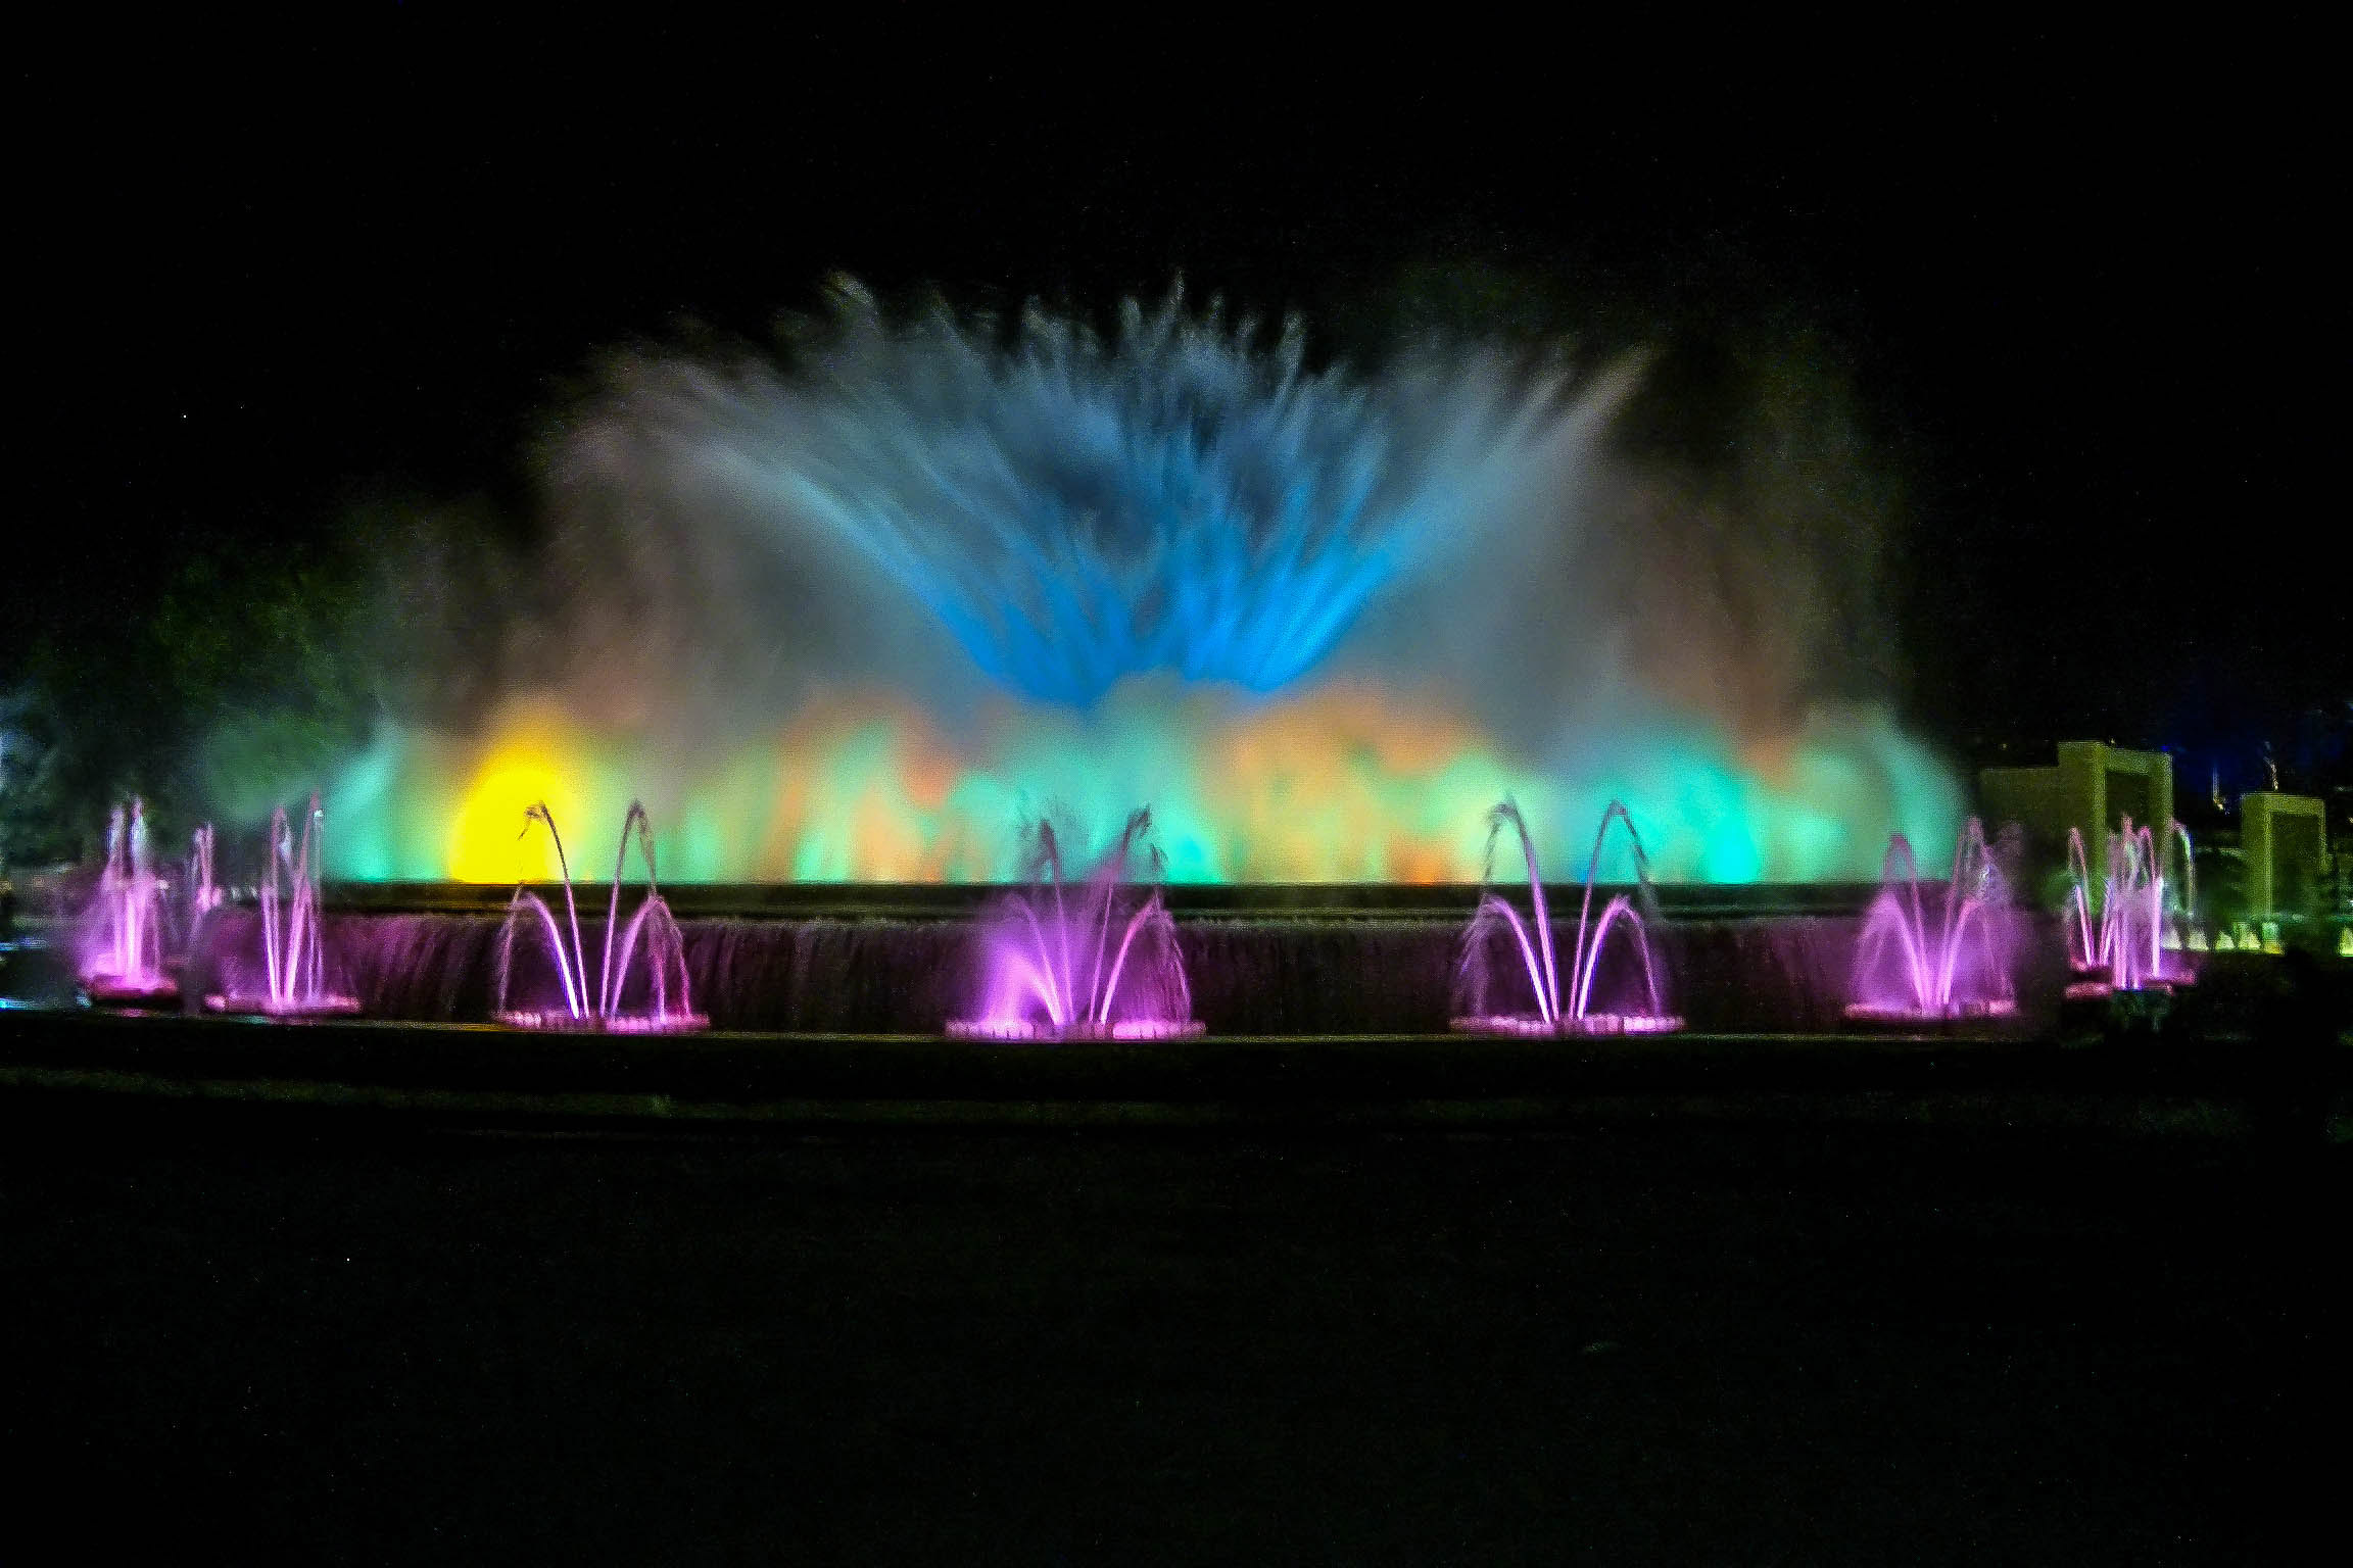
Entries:
POLYGON ((12 1091, 7 1530, 2299 1561, 2348 1389, 2344 1154, 2233 1112, 624 1138, 12 1091))

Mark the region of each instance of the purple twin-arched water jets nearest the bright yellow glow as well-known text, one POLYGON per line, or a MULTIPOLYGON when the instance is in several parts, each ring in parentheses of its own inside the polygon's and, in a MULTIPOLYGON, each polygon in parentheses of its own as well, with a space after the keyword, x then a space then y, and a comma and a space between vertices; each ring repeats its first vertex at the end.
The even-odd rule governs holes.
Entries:
POLYGON ((548 830, 555 842, 555 865, 565 879, 567 931, 555 924, 548 900, 515 884, 515 898, 506 905, 506 924, 499 929, 499 990, 492 1004, 492 1020, 513 1030, 581 1030, 612 1034, 689 1034, 711 1027, 711 1020, 694 1011, 687 985, 685 936, 671 914, 668 900, 654 879, 654 830, 645 820, 645 806, 628 804, 621 818, 621 849, 612 865, 612 900, 605 910, 605 940, 598 959, 595 992, 588 990, 588 950, 581 943, 581 912, 572 896, 572 863, 565 860, 565 839, 555 832, 555 816, 546 802, 525 811, 522 832, 532 823, 548 830), (638 856, 645 863, 645 900, 628 924, 621 924, 621 872, 628 870, 628 837, 638 835, 638 856), (532 922, 536 917, 536 922, 532 922), (560 1006, 508 1006, 515 980, 515 929, 532 922, 546 936, 546 957, 553 966, 548 990, 560 997, 560 1006), (619 947, 614 936, 619 933, 619 947), (640 966, 642 959, 642 966, 640 966))

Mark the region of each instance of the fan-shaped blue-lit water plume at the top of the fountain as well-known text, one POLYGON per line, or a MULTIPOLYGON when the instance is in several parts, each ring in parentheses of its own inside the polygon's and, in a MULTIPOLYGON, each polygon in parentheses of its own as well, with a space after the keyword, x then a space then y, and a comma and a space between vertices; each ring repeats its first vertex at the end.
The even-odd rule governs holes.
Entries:
POLYGON ((845 287, 793 348, 791 374, 635 360, 572 456, 833 534, 1047 703, 1141 672, 1299 682, 1475 534, 1515 465, 1586 430, 1558 367, 1480 353, 1353 378, 1308 367, 1297 322, 1226 324, 1181 294, 1108 334, 1028 310, 1005 339, 946 308, 892 322, 845 287))

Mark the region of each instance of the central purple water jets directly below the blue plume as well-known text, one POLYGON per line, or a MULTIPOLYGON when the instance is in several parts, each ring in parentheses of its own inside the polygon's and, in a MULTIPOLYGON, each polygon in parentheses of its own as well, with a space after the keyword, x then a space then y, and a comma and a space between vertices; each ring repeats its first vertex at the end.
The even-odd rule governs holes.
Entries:
POLYGON ((1160 900, 1160 851, 1146 844, 1151 820, 1151 811, 1129 816, 1078 886, 1064 884, 1054 825, 1038 823, 1031 886, 1000 898, 981 922, 981 1011, 951 1020, 951 1037, 1056 1041, 1202 1032, 1176 950, 1176 922, 1160 900))

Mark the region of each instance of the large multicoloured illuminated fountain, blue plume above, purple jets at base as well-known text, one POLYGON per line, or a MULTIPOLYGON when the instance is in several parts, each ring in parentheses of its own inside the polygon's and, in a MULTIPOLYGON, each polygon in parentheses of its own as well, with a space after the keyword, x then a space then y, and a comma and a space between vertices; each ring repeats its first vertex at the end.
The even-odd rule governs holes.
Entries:
MULTIPOLYGON (((1181 296, 1106 327, 1054 310, 899 313, 856 292, 774 355, 614 357, 541 449, 544 555, 468 574, 421 548, 416 571, 388 574, 468 632, 431 637, 426 658, 449 665, 428 672, 464 663, 471 679, 419 682, 409 708, 395 691, 400 719, 318 764, 336 780, 332 846, 315 816, 299 835, 273 827, 259 971, 224 961, 219 1006, 341 1009, 341 943, 367 976, 344 990, 372 1009, 480 1018, 494 971, 487 1011, 532 1030, 694 1030, 699 999, 746 1027, 1158 1039, 1200 1032, 1195 983, 1219 1027, 1313 1027, 1315 999, 1289 997, 1292 976, 1339 971, 1271 964, 1275 983, 1259 985, 1228 959, 1292 936, 1245 943, 1205 922, 1181 945, 1165 889, 1478 882, 1461 954, 1452 919, 1381 933, 1426 947, 1384 976, 1395 985, 1351 1013, 1355 1027, 1652 1034, 1680 1027, 1678 997, 1713 1027, 1727 1016, 1713 990, 1668 994, 1654 879, 1864 879, 1889 835, 1906 863, 1911 844, 1944 856, 1960 806, 1885 710, 1802 696, 1847 689, 1807 668, 1824 646, 1814 623, 1835 616, 1817 614, 1819 595, 1781 592, 1807 574, 1824 595, 1849 592, 1814 559, 1871 515, 1831 508, 1824 522, 1817 505, 1847 461, 1828 440, 1845 425, 1791 416, 1786 442, 1755 447, 1772 454, 1758 473, 1715 473, 1697 440, 1635 451, 1612 430, 1640 369, 1560 343, 1438 336, 1367 369, 1313 350, 1297 324, 1181 296), (1706 555, 1729 536, 1772 545, 1741 557, 1753 569, 1737 604, 1722 581, 1741 574, 1706 555), (529 590, 471 602, 475 581, 529 590), (1786 658, 1753 658, 1765 644, 1786 658), (1151 818, 1127 818, 1092 865, 1052 825, 1007 832, 1042 802, 1108 827, 1146 799, 1151 818), (696 931, 689 994, 642 802, 664 818, 673 882, 991 889, 969 1006, 944 1006, 913 969, 936 961, 939 933, 896 929, 826 947, 873 971, 800 966, 779 997, 746 994, 779 971, 736 964, 736 931, 696 931), (614 816, 593 931, 555 823, 614 816), (1598 823, 1574 936, 1546 889, 1577 875, 1574 839, 1551 823, 1598 823), (1525 900, 1494 886, 1511 835, 1525 900), (1619 837, 1633 882, 1595 891, 1619 837), (642 898, 624 910, 631 842, 642 898), (496 926, 353 914, 329 929, 325 879, 513 896, 496 926), (849 999, 826 1001, 828 987, 849 999)), ((202 757, 224 820, 289 797, 268 736, 282 731, 226 726, 202 757)), ((162 957, 141 957, 153 938, 132 893, 153 877, 129 865, 132 839, 125 823, 99 900, 113 926, 92 947, 136 983, 162 957)), ((209 835, 193 851, 191 929, 209 961, 252 926, 202 907, 209 835)), ((2009 1006, 2007 976, 1981 961, 1998 940, 1986 889, 1955 870, 1939 903, 1951 929, 1929 931, 1918 870, 1908 898, 1894 860, 1885 870, 1866 969, 1901 973, 1871 980, 1857 1016, 2009 1006)), ((1838 938, 1842 964, 1842 926, 1838 938)), ((1678 931, 1678 964, 1706 940, 1697 922, 1678 931)))

